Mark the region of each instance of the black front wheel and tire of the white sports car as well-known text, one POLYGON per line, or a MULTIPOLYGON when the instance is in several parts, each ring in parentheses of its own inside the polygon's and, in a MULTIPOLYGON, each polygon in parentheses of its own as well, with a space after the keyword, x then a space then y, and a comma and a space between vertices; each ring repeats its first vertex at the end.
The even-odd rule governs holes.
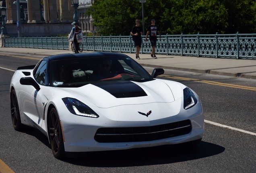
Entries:
POLYGON ((62 136, 62 128, 60 118, 55 108, 50 111, 48 121, 48 135, 52 153, 55 158, 62 159, 65 157, 64 141, 62 136))

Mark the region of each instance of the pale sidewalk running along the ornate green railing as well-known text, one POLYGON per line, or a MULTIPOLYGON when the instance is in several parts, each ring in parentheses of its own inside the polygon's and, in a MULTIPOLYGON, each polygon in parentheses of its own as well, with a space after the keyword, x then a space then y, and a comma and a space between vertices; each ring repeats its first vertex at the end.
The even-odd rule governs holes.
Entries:
MULTIPOLYGON (((15 52, 21 54, 35 54, 50 56, 55 54, 73 53, 68 50, 50 50, 33 48, 0 48, 0 53, 15 52)), ((85 52, 85 51, 83 51, 85 52)), ((157 59, 150 54, 140 54, 140 60, 135 54, 124 53, 132 57, 142 66, 160 67, 163 69, 182 70, 196 73, 209 73, 225 76, 256 79, 256 60, 237 60, 223 58, 202 58, 193 56, 157 55, 157 59)))

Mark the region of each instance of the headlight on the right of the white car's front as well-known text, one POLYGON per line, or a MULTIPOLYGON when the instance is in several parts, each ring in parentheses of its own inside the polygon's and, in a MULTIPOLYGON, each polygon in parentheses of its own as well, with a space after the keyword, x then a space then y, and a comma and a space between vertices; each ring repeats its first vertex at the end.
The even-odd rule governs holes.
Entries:
POLYGON ((183 104, 184 109, 189 109, 194 105, 196 105, 197 103, 196 96, 189 88, 185 88, 183 90, 183 95, 184 95, 184 104, 183 104))

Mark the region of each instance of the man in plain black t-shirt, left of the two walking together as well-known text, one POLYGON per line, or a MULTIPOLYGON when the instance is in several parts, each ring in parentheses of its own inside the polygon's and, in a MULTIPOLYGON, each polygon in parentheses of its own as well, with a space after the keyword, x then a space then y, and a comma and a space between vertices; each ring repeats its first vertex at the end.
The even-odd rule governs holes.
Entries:
POLYGON ((139 52, 141 48, 141 35, 142 35, 142 28, 140 25, 140 20, 135 20, 135 26, 132 27, 132 31, 130 34, 132 35, 132 40, 134 41, 134 46, 136 46, 136 59, 140 59, 139 52))

